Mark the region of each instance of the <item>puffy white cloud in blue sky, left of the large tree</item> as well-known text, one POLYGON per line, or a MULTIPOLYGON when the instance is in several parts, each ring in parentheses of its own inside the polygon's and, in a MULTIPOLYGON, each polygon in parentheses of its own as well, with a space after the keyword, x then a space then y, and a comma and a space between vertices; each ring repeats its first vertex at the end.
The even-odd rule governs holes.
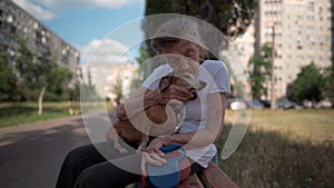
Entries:
POLYGON ((94 39, 89 44, 77 48, 80 50, 82 63, 114 65, 126 63, 131 59, 125 56, 129 48, 111 39, 105 39, 104 41, 94 39))

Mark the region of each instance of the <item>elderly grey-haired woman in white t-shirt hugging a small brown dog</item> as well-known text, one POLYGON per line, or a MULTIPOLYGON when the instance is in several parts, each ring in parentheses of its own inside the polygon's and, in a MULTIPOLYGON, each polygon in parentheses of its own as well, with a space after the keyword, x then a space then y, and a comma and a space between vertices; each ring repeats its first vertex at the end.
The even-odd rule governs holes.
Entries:
POLYGON ((138 182, 143 175, 135 171, 141 171, 147 164, 164 165, 166 159, 161 157, 160 148, 174 144, 184 146, 185 154, 191 161, 191 172, 206 168, 215 157, 217 149, 214 142, 220 136, 225 99, 230 92, 226 67, 217 60, 205 60, 196 21, 190 19, 174 19, 163 24, 156 31, 156 38, 151 39, 151 47, 167 63, 156 68, 143 86, 118 107, 117 118, 128 119, 151 106, 175 99, 183 102, 185 109, 184 121, 178 131, 154 138, 145 151, 140 152, 141 156, 138 152, 119 154, 110 142, 98 144, 108 148, 108 159, 94 145, 77 148, 68 154, 57 188, 115 188, 138 182), (208 85, 205 90, 198 91, 195 100, 188 100, 193 98, 190 91, 174 85, 161 92, 157 88, 159 78, 173 71, 191 73, 208 85), (114 165, 117 161, 126 161, 124 168, 114 165), (134 170, 127 170, 128 168, 134 170))

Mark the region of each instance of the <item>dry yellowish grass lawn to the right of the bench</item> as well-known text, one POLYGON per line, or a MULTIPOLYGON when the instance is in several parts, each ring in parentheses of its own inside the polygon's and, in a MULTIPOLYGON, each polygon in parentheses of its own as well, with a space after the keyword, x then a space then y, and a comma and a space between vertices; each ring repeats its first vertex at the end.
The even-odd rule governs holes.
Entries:
POLYGON ((219 166, 240 187, 334 187, 334 110, 253 111, 243 142, 219 166))

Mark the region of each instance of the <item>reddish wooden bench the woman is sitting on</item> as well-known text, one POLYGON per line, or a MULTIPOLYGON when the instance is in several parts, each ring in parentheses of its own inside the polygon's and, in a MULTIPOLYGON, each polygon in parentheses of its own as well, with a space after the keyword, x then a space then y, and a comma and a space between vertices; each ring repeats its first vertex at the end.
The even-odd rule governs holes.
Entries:
MULTIPOLYGON (((136 185, 144 188, 144 185, 136 185)), ((194 174, 177 188, 238 188, 238 186, 213 161, 200 174, 194 174)))

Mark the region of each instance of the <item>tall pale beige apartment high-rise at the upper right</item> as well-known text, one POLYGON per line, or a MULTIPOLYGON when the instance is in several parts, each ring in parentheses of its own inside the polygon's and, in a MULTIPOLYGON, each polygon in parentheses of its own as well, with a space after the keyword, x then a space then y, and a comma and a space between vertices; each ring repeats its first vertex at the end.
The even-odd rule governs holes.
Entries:
POLYGON ((302 67, 333 66, 332 6, 333 0, 259 0, 256 46, 275 41, 276 97, 286 95, 302 67))

